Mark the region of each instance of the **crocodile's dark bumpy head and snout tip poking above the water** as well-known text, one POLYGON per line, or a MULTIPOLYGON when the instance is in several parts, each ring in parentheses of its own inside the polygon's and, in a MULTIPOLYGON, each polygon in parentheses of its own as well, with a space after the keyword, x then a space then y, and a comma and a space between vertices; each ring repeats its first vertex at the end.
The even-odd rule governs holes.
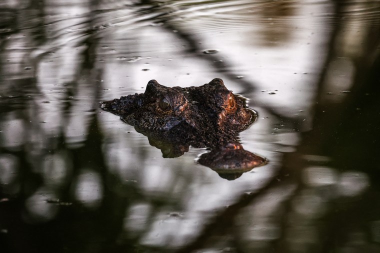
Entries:
POLYGON ((220 78, 191 87, 166 87, 150 80, 144 93, 101 102, 146 135, 163 157, 177 157, 188 147, 208 147, 198 162, 227 179, 266 163, 242 148, 238 133, 256 119, 245 98, 228 90, 220 78))

